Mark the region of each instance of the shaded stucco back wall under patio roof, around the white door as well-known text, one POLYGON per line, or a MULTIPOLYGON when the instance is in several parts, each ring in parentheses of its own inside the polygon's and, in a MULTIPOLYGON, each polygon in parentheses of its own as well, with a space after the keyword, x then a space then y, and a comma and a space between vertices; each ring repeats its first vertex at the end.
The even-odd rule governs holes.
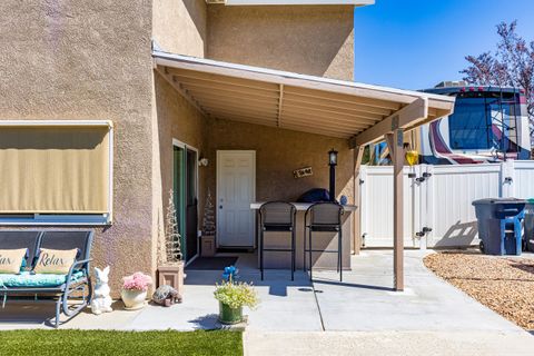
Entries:
POLYGON ((216 186, 217 150, 256 150, 257 200, 295 201, 312 188, 328 189, 328 151, 339 151, 336 170, 336 192, 353 197, 353 152, 344 139, 293 130, 270 128, 230 120, 208 120, 207 185, 216 186), (314 175, 294 178, 293 171, 312 167, 314 175))

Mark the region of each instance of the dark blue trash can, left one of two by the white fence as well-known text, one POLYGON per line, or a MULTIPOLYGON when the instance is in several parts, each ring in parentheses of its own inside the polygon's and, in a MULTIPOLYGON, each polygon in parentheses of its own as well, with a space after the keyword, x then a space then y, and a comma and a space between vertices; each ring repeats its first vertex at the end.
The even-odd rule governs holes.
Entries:
POLYGON ((525 205, 526 200, 514 198, 473 201, 483 254, 521 255, 525 205))

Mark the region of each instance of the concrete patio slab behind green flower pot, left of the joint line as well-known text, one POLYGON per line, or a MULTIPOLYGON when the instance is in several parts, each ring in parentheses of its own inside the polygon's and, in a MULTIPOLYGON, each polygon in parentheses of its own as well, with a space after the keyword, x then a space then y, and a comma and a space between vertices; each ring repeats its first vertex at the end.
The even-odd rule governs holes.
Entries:
MULTIPOLYGON (((318 307, 312 284, 306 274, 299 271, 291 281, 284 270, 269 270, 268 278, 260 280, 259 273, 245 269, 241 280, 253 280, 261 300, 248 314, 250 329, 261 330, 322 330, 318 307)), ((212 329, 217 322, 218 301, 214 298, 214 286, 220 281, 220 271, 188 271, 184 303, 171 308, 148 306, 127 328, 146 329, 212 329)))

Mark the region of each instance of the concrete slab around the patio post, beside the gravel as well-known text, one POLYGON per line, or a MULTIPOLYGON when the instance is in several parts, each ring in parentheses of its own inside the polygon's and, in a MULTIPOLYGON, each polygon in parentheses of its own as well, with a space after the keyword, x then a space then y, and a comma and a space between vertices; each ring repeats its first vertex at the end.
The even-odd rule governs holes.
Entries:
POLYGON ((424 251, 405 253, 406 291, 390 291, 393 256, 366 251, 339 284, 337 274, 314 274, 326 330, 521 330, 493 310, 436 277, 424 251))

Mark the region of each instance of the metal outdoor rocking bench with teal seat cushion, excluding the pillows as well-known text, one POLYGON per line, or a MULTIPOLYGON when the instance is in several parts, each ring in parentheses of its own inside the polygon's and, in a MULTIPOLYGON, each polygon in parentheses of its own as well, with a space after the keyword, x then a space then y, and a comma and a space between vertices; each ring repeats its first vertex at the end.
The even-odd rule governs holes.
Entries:
POLYGON ((38 296, 44 296, 56 301, 56 328, 61 312, 69 319, 78 315, 92 296, 89 270, 92 237, 92 230, 0 230, 0 249, 27 249, 19 274, 0 274, 2 308, 8 297, 20 299, 29 295, 38 300, 38 296), (41 248, 78 253, 67 274, 36 274, 32 268, 41 248))

